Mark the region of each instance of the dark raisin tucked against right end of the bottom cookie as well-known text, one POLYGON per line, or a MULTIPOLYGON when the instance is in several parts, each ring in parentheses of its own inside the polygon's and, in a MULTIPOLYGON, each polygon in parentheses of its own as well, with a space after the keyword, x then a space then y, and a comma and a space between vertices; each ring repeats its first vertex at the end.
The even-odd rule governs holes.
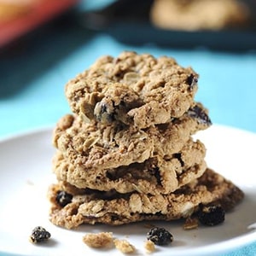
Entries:
POLYGON ((223 207, 219 206, 200 206, 198 219, 201 224, 215 226, 224 222, 225 212, 223 207))

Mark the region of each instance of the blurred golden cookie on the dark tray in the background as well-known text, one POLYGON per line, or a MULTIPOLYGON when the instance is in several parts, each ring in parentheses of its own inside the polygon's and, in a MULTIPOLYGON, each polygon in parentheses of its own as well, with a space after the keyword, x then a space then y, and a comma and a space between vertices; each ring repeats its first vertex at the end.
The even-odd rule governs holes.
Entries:
POLYGON ((250 12, 236 0, 154 0, 150 20, 162 29, 197 31, 246 26, 250 12))

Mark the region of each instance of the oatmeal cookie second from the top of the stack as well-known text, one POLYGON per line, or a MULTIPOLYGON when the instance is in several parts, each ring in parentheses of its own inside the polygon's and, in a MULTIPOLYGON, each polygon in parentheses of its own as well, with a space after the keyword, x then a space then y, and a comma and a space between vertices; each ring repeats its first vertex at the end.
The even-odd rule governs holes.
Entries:
POLYGON ((86 123, 67 114, 55 127, 53 143, 72 165, 96 172, 142 163, 156 155, 172 157, 192 134, 209 125, 207 111, 199 103, 179 119, 144 130, 119 123, 86 123))

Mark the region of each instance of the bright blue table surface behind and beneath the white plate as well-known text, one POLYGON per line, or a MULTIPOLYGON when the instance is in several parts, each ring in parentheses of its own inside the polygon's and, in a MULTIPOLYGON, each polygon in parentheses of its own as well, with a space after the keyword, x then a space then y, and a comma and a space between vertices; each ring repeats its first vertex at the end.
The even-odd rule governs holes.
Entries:
MULTIPOLYGON (((69 21, 65 26, 52 22, 1 52, 0 138, 54 126, 63 114, 70 113, 64 96, 67 81, 99 56, 116 56, 123 50, 168 55, 183 67, 193 67, 200 74, 196 100, 210 110, 213 124, 256 132, 255 51, 134 46, 69 21)), ((256 242, 224 255, 256 255, 256 242)))

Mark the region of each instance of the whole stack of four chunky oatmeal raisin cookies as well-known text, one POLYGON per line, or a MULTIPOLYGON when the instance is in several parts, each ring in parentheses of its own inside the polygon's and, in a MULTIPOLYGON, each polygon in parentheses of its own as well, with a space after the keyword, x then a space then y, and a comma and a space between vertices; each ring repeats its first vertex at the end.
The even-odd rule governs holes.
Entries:
POLYGON ((187 218, 201 203, 233 207, 236 186, 207 169, 193 139, 211 125, 195 102, 198 75, 172 58, 104 56, 66 85, 67 114, 54 131, 51 221, 125 224, 187 218))

